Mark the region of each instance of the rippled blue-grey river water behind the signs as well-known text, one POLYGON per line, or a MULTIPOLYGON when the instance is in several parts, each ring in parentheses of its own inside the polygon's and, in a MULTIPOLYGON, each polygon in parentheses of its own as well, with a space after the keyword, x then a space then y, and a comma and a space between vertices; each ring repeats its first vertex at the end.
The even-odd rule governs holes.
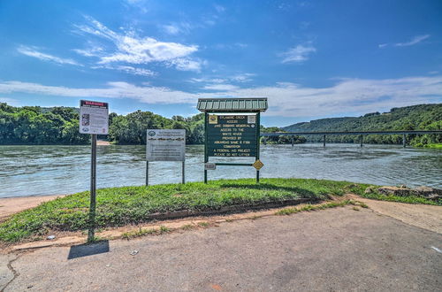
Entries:
MULTIPOLYGON (((186 180, 203 180, 202 146, 187 146, 186 180)), ((142 185, 145 147, 99 146, 98 188, 142 185)), ((253 160, 253 159, 252 159, 253 160)), ((399 145, 262 145, 262 177, 297 177, 442 188, 442 151, 399 145)), ((70 194, 89 188, 90 146, 0 146, 0 197, 70 194)), ((217 161, 226 161, 218 159, 217 161)), ((250 162, 250 158, 241 159, 250 162)), ((150 163, 152 184, 179 182, 179 162, 150 163)), ((210 179, 255 177, 252 167, 218 166, 210 179)))

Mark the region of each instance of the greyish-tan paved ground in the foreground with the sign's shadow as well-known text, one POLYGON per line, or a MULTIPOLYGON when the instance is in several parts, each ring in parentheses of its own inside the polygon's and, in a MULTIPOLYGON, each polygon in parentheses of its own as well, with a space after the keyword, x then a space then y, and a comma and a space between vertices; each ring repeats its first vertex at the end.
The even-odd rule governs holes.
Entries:
POLYGON ((0 290, 438 291, 441 242, 350 205, 0 255, 0 290))

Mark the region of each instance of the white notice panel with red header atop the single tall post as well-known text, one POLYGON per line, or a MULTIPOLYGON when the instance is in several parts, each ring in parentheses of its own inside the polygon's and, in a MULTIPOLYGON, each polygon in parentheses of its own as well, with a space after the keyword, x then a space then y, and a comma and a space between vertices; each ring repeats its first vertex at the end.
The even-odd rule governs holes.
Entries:
POLYGON ((80 133, 108 134, 109 104, 80 100, 80 133))

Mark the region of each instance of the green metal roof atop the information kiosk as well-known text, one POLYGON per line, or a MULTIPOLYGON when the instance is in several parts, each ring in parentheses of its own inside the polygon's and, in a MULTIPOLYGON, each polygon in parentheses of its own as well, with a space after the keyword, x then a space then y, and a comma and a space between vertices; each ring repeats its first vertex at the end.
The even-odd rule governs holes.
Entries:
POLYGON ((257 98, 200 98, 200 111, 266 111, 267 97, 257 98))

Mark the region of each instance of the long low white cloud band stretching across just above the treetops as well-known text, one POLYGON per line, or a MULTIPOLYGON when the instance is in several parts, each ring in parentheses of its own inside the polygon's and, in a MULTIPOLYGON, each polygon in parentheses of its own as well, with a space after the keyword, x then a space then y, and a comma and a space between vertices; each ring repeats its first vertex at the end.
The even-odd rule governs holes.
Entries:
POLYGON ((199 97, 266 96, 270 105, 266 115, 298 118, 362 114, 410 104, 440 103, 441 92, 442 75, 386 80, 340 79, 325 88, 302 87, 289 82, 255 88, 211 84, 195 93, 153 87, 149 84, 136 86, 126 82, 109 82, 103 88, 65 88, 20 81, 0 82, 0 94, 133 98, 147 104, 196 104, 199 97))

